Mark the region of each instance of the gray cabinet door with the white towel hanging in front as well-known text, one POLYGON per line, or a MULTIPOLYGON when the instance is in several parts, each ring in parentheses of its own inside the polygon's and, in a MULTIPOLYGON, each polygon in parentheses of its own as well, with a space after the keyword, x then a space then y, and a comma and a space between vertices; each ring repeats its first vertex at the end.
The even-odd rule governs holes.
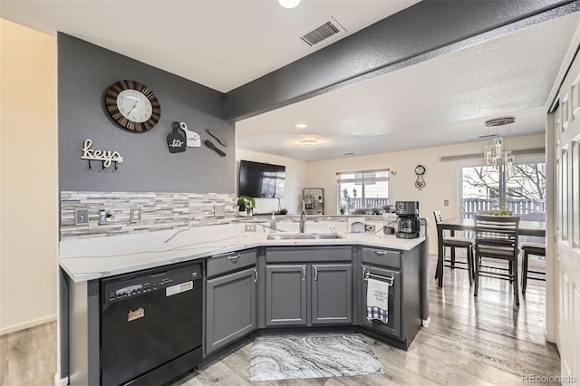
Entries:
MULTIPOLYGON (((389 286, 389 318, 388 323, 382 323, 378 320, 368 320, 367 319, 367 309, 366 309, 366 298, 367 298, 367 287, 368 282, 365 278, 362 278, 362 325, 372 328, 373 330, 379 331, 381 333, 388 333, 389 335, 396 336, 401 339, 402 328, 401 320, 404 317, 401 310, 401 272, 391 270, 388 268, 379 268, 370 265, 362 265, 362 275, 365 273, 371 273, 372 275, 380 277, 392 278, 392 285, 389 286)), ((387 284, 385 284, 387 285, 387 284)))

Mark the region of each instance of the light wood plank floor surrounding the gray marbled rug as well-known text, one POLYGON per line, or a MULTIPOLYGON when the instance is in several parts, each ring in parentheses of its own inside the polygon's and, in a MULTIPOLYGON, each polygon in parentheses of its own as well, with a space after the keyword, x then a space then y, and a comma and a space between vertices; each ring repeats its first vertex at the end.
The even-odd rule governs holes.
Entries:
MULTIPOLYGON (((405 352, 371 344, 384 375, 317 380, 248 381, 251 343, 210 363, 177 385, 384 385, 517 384, 523 374, 560 374, 556 346, 544 341, 545 283, 528 280, 519 308, 512 306, 507 281, 481 278, 478 298, 467 271, 445 268, 438 289, 430 260, 429 328, 421 329, 405 352)), ((55 372, 55 323, 0 338, 0 385, 51 385, 55 372)))

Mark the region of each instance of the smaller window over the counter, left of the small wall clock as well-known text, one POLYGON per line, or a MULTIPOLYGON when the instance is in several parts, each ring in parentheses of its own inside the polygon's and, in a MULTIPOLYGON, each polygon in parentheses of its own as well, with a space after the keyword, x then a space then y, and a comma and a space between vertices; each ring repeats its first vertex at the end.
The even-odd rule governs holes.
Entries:
POLYGON ((346 212, 362 207, 384 207, 389 204, 389 169, 336 173, 339 209, 346 212))

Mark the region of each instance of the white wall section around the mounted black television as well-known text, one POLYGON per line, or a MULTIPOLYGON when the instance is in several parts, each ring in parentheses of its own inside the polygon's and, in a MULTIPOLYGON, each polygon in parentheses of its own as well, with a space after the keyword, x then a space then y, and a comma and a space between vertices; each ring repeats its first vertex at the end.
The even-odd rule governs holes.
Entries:
MULTIPOLYGON (((299 159, 287 159, 270 154, 258 153, 249 150, 236 150, 236 192, 237 179, 239 179, 239 160, 251 160, 255 162, 266 162, 286 167, 284 198, 280 198, 281 207, 288 209, 288 214, 300 213, 300 199, 302 189, 306 188, 308 174, 308 162, 299 159)), ((278 210, 277 198, 256 198, 256 213, 271 213, 278 210)))

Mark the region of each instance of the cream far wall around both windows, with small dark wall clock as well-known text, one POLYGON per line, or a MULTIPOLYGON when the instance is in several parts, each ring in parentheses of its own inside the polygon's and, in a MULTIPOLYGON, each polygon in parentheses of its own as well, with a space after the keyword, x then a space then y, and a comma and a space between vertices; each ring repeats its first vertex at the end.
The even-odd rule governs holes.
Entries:
MULTIPOLYGON (((459 168, 476 165, 478 159, 441 161, 441 156, 454 156, 481 153, 487 141, 474 141, 459 145, 434 148, 394 151, 391 153, 372 154, 343 159, 312 161, 308 164, 308 184, 324 188, 327 214, 336 213, 336 173, 343 171, 391 169, 389 184, 389 201, 419 201, 420 216, 433 221, 433 210, 440 209, 443 217, 459 216, 460 198, 458 177, 459 168), (423 165, 426 169, 423 176, 427 186, 421 190, 415 188, 415 167, 423 165), (449 199, 449 207, 443 206, 443 200, 449 199)), ((512 150, 543 148, 544 134, 511 139, 512 150)), ((517 157, 518 159, 518 157, 517 157)), ((519 158, 521 159, 521 157, 519 158)), ((483 160, 483 156, 481 161, 483 160)), ((430 254, 437 253, 437 232, 430 227, 430 254)))

